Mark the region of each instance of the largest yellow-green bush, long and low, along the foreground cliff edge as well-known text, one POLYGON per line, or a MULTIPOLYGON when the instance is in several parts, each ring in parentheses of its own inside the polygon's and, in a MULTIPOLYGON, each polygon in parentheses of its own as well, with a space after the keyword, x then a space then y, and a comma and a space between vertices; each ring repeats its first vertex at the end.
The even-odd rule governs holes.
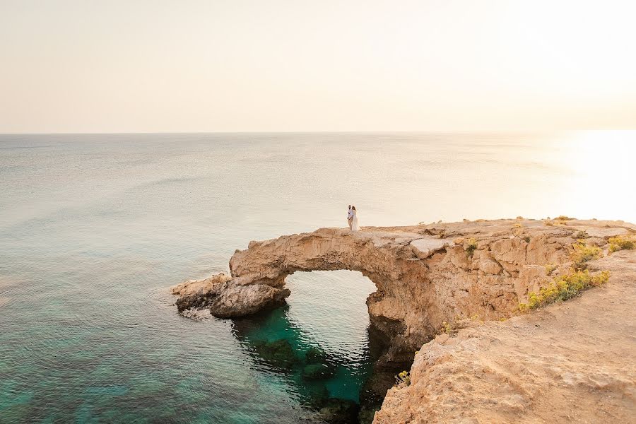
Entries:
POLYGON ((574 298, 583 290, 607 283, 609 272, 603 271, 590 275, 585 271, 574 271, 565 276, 558 276, 547 287, 541 288, 539 293, 531 292, 527 303, 519 304, 519 311, 526 312, 550 303, 574 298))

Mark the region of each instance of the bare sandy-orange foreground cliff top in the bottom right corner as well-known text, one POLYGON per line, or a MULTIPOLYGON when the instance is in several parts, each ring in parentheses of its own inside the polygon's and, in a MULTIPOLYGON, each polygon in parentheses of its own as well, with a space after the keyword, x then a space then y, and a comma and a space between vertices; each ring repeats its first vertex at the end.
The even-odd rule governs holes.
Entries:
POLYGON ((635 423, 636 250, 591 268, 608 283, 426 343, 374 423, 635 423))

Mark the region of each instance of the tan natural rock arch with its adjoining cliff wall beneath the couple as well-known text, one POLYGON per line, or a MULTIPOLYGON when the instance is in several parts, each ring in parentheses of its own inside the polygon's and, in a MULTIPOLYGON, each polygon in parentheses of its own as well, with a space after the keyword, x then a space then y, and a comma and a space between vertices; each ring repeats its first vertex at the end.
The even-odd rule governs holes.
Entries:
MULTIPOLYGON (((570 221, 566 228, 496 220, 358 232, 322 228, 250 242, 230 259, 230 276, 177 286, 177 306, 240 317, 283 302, 290 294, 285 277, 296 271, 360 271, 377 287, 367 298, 372 323, 396 348, 411 350, 457 317, 510 316, 529 290, 545 283, 546 264, 570 261, 577 223, 590 228, 590 221, 570 221), (467 249, 473 242, 474 252, 467 249)), ((604 236, 601 221, 594 227, 604 236)))

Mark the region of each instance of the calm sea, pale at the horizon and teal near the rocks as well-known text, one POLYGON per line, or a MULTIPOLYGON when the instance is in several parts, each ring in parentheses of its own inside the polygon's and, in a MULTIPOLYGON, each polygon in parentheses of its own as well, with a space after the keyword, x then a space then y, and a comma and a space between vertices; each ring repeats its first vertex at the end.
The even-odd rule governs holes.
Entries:
POLYGON ((370 372, 350 271, 288 278, 248 322, 179 317, 166 288, 250 240, 524 216, 636 221, 636 133, 0 135, 0 423, 306 423, 370 372), (264 358, 329 355, 303 379, 264 358), (266 356, 266 355, 265 355, 266 356))

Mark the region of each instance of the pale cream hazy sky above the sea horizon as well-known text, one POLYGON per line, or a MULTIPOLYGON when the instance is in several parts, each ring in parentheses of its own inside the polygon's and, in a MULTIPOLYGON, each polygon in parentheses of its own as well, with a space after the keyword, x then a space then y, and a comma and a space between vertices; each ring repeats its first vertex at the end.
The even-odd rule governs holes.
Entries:
POLYGON ((636 128, 636 1, 0 0, 0 132, 636 128))

